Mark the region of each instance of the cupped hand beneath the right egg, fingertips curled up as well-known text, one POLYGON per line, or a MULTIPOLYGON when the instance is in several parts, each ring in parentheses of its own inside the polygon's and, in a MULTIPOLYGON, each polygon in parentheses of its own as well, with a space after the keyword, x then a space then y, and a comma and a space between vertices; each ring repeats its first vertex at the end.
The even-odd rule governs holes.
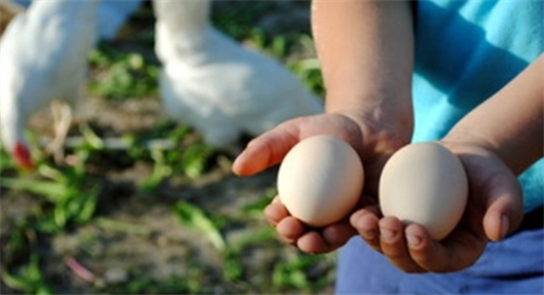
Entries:
POLYGON ((486 243, 499 241, 521 222, 521 189, 516 176, 493 153, 462 142, 441 142, 461 161, 469 179, 466 211, 444 240, 433 241, 418 225, 362 208, 350 223, 367 244, 406 272, 453 272, 473 265, 486 243))

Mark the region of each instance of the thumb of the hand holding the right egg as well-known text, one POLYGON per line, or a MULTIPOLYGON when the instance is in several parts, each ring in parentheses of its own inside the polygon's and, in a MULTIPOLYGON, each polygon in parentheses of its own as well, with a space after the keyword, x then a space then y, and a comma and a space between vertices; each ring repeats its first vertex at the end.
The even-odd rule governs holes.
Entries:
POLYGON ((483 218, 485 234, 495 242, 517 229, 523 218, 519 183, 507 180, 496 182, 491 189, 487 210, 483 218))

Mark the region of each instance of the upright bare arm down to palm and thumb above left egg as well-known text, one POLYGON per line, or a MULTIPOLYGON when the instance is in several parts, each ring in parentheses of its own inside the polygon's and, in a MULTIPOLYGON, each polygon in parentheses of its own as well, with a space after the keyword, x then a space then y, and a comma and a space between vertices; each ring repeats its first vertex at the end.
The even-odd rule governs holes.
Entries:
MULTIPOLYGON (((280 163, 316 133, 346 139, 376 167, 410 141, 413 29, 409 0, 313 0, 312 29, 326 88, 326 115, 287 121, 255 139, 233 165, 248 176, 280 163)), ((367 167, 367 169, 372 169, 367 167)))

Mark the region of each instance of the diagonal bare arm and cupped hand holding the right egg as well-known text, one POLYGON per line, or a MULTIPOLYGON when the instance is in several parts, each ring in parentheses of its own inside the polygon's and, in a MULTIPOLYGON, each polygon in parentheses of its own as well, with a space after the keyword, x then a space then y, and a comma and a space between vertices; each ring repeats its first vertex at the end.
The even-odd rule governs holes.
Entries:
MULTIPOLYGON (((405 271, 467 268, 489 240, 499 241, 520 225, 522 192, 516 175, 544 155, 544 54, 466 115, 442 142, 460 158, 470 180, 469 209, 454 233, 436 242, 418 225, 405 227, 385 217, 379 221, 380 231, 401 234, 366 240, 405 271)), ((375 217, 364 210, 351 221, 363 238, 376 230, 375 217)))

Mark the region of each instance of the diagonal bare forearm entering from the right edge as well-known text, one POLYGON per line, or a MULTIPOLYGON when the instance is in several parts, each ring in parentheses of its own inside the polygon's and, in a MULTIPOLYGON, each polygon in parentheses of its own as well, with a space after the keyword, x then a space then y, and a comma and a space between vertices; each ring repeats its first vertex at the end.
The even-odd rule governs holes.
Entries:
POLYGON ((516 175, 544 156, 544 54, 461 119, 445 140, 489 149, 516 175))

